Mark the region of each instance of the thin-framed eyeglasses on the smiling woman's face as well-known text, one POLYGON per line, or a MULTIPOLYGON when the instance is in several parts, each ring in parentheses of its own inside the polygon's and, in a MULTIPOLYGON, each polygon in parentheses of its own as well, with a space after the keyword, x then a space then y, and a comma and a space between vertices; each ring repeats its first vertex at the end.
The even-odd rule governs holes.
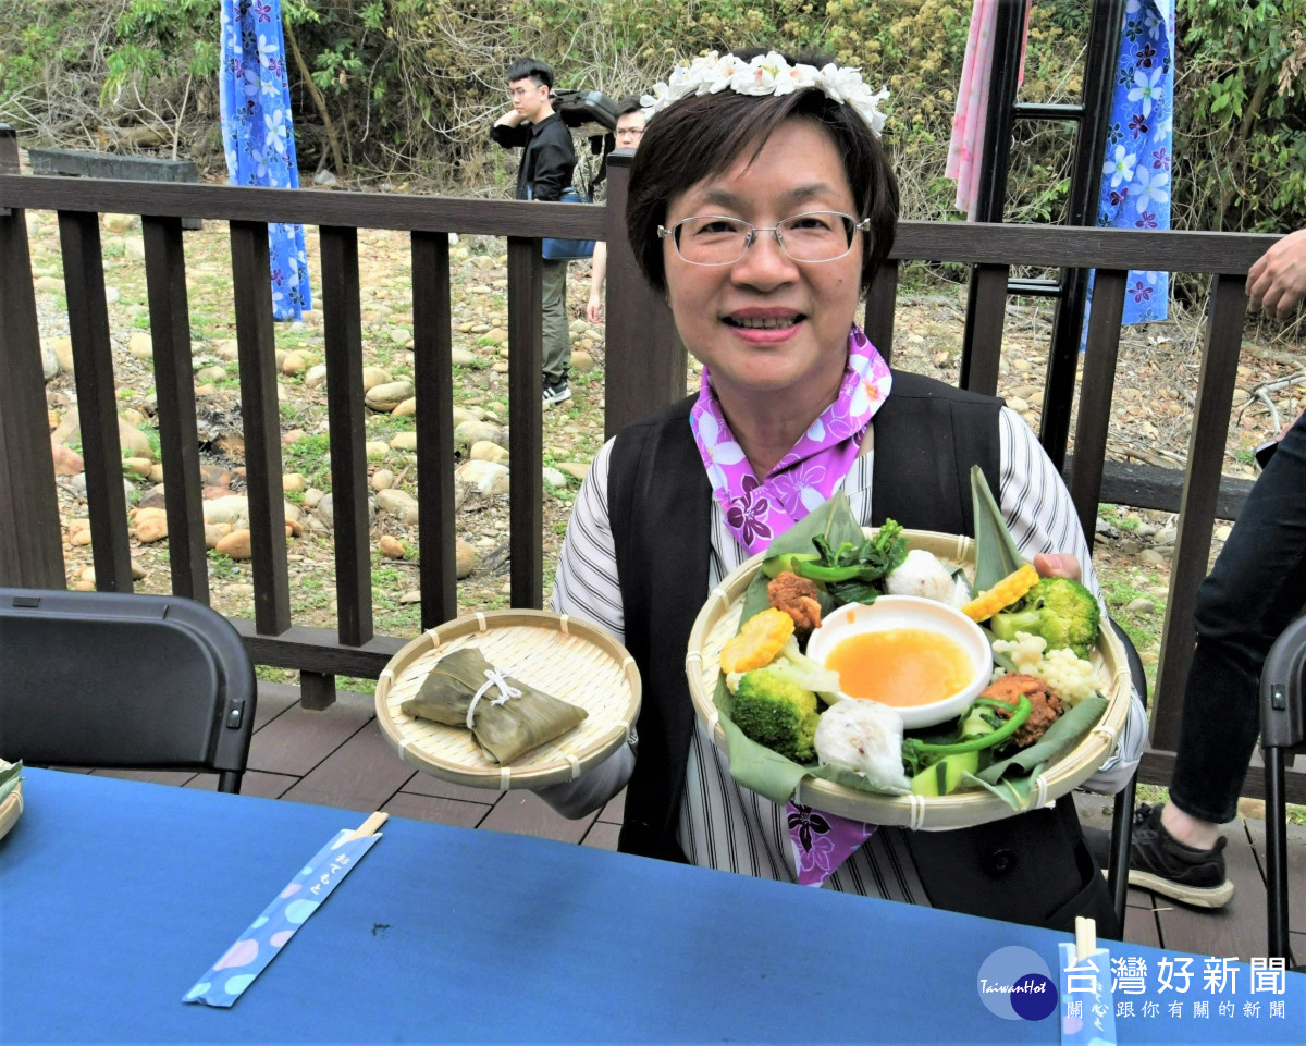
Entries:
POLYGON ((870 229, 870 218, 859 222, 837 210, 808 210, 768 227, 707 214, 683 218, 670 229, 660 225, 657 235, 670 239, 677 253, 691 265, 734 265, 759 232, 773 232, 776 244, 793 261, 837 261, 853 249, 853 234, 870 229))

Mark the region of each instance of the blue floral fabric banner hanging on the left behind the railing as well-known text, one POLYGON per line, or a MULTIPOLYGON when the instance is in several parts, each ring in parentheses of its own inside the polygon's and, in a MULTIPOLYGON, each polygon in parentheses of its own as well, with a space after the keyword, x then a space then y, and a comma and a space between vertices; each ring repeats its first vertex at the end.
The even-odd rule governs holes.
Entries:
MULTIPOLYGON (((299 188, 281 0, 222 0, 219 95, 227 180, 299 188)), ((298 320, 313 307, 304 227, 269 225, 268 248, 273 316, 298 320)))

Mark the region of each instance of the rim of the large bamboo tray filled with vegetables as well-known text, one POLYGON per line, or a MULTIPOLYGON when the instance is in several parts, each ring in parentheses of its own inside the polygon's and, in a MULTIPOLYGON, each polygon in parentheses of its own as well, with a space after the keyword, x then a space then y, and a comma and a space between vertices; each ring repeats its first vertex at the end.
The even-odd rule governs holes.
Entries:
MULTIPOLYGON (((947 564, 974 564, 974 542, 970 538, 930 530, 905 530, 904 537, 909 547, 934 552, 947 564)), ((690 633, 690 648, 684 659, 690 693, 699 718, 708 726, 712 742, 722 752, 726 751, 725 730, 720 723, 720 712, 714 701, 717 679, 721 675, 721 646, 739 631, 744 593, 760 569, 763 559, 765 554, 752 556, 712 590, 690 633)), ((1128 716, 1131 700, 1128 662, 1124 648, 1109 627, 1102 628, 1092 661, 1097 667, 1100 688, 1107 699, 1106 712, 1075 748, 1046 767, 1033 782, 1030 807, 1043 806, 1092 777, 1111 753, 1115 738, 1128 716)), ((936 798, 882 795, 850 789, 811 774, 802 778, 793 798, 797 803, 844 817, 926 831, 969 828, 1020 812, 982 789, 936 798)))

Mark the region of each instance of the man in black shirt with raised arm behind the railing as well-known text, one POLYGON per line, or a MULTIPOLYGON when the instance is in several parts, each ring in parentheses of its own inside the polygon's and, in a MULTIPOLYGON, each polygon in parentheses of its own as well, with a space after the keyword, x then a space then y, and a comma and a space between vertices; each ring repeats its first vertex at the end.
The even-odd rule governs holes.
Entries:
MULTIPOLYGON (((512 108, 500 116, 490 137, 504 148, 520 148, 518 200, 560 200, 576 170, 571 131, 552 106, 554 71, 538 59, 516 59, 508 67, 512 108)), ((567 324, 567 262, 543 262, 545 404, 571 400, 567 367, 571 332, 567 324)))

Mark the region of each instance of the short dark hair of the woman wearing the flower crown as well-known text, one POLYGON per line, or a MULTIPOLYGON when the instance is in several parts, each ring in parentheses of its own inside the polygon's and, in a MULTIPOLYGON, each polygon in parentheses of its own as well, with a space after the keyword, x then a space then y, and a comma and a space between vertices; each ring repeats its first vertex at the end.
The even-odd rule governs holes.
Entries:
MULTIPOLYGON (((765 50, 735 51, 748 61, 765 50)), ((791 65, 818 69, 824 56, 785 55, 791 65)), ((791 119, 820 127, 844 161, 844 174, 853 191, 857 218, 870 218, 863 236, 862 294, 870 289, 897 232, 899 187, 893 167, 870 124, 852 106, 836 102, 819 87, 781 95, 748 95, 724 90, 688 95, 649 120, 631 165, 631 188, 626 200, 626 231, 644 277, 666 291, 662 240, 657 227, 666 222, 667 202, 704 178, 726 171, 750 149, 752 155, 776 129, 791 119)))

